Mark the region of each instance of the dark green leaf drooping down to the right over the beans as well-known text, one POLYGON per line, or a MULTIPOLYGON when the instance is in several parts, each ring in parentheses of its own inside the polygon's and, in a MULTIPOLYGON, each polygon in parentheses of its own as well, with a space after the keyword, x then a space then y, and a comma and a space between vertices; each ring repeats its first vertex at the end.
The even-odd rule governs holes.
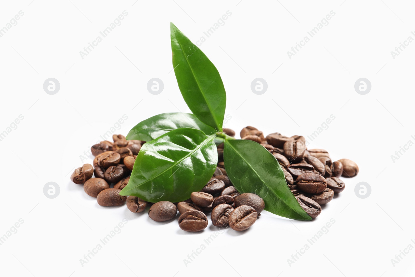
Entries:
POLYGON ((251 140, 225 140, 225 169, 237 190, 261 196, 265 210, 298 220, 312 218, 300 207, 287 186, 276 158, 251 140))

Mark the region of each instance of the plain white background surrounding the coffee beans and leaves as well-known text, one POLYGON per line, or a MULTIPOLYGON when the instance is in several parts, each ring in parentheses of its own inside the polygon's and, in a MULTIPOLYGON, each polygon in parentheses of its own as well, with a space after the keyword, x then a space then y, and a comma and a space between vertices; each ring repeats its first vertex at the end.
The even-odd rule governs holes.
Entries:
POLYGON ((408 140, 415 142, 415 42, 391 56, 400 42, 415 38, 412 2, 31 1, 0 7, 1 28, 24 12, 0 37, 0 132, 24 116, 0 142, 0 235, 24 220, 0 245, 1 275, 413 276, 415 250, 391 262, 415 246, 415 147, 391 159, 408 140), (79 52, 124 10, 122 24, 82 59, 79 52), (360 172, 344 179, 346 189, 311 222, 263 212, 249 230, 227 229, 207 245, 213 226, 185 233, 177 218, 156 223, 126 206, 100 207, 69 176, 92 163, 80 156, 122 115, 128 119, 116 133, 126 135, 150 116, 190 112, 172 71, 169 22, 196 42, 228 10, 225 25, 200 46, 225 84, 232 117, 225 127, 307 137, 334 115, 308 148, 352 159, 360 172), (332 10, 329 24, 289 59, 287 51, 332 10), (51 77, 61 85, 55 95, 43 90, 51 77), (146 90, 154 77, 164 82, 159 95, 146 90), (258 77, 268 83, 262 95, 250 89, 258 77), (362 77, 372 84, 366 95, 354 90, 362 77), (60 186, 55 199, 44 196, 49 181, 60 186), (360 181, 371 186, 366 199, 354 193, 360 181), (82 266, 80 259, 123 218, 121 233, 82 266), (290 266, 287 259, 331 218, 328 233, 290 266), (186 267, 183 260, 202 244, 206 249, 186 267))

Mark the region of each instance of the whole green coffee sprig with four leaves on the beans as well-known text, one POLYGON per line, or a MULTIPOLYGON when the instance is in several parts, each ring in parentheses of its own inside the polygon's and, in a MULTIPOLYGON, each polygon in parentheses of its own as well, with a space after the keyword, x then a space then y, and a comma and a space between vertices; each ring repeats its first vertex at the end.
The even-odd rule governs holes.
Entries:
POLYGON ((240 193, 258 194, 265 210, 311 220, 286 184, 276 158, 259 143, 235 140, 222 132, 226 93, 220 74, 207 56, 171 23, 171 49, 177 83, 193 114, 163 113, 130 130, 128 140, 147 141, 137 155, 120 195, 145 201, 178 202, 209 181, 224 142, 225 169, 240 193))

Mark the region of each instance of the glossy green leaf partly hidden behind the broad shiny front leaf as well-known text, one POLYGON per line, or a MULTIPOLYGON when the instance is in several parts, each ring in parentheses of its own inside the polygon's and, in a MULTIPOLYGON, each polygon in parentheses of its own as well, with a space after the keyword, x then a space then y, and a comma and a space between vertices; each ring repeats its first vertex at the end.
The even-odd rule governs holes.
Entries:
POLYGON ((162 113, 135 125, 128 132, 127 140, 150 141, 178 128, 194 128, 208 135, 215 132, 215 129, 207 126, 191 113, 162 113))

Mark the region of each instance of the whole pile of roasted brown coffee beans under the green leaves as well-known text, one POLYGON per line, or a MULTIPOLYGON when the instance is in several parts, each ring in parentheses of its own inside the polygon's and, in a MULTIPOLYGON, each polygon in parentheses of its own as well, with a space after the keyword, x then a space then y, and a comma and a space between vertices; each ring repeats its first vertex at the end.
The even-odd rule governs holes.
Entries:
MULTIPOLYGON (((235 136, 231 129, 223 131, 235 136)), ((353 177, 359 172, 359 167, 349 159, 332 162, 326 150, 308 150, 303 136, 272 133, 264 137, 263 132, 251 126, 242 129, 240 135, 244 140, 260 143, 273 154, 291 192, 312 218, 321 213, 320 205, 330 202, 334 194, 344 190, 340 176, 353 177)), ((223 144, 217 146, 218 163, 212 178, 201 191, 193 192, 190 199, 178 203, 151 203, 136 196, 120 196, 120 191, 128 184, 137 154, 146 142, 126 140, 123 135, 113 135, 112 139, 113 142, 105 140, 93 145, 93 165, 84 164, 71 175, 71 181, 83 184, 85 193, 96 197, 100 206, 127 203, 133 213, 141 213, 149 207, 149 217, 159 222, 175 218, 178 211, 179 227, 189 232, 205 229, 208 213, 214 226, 243 231, 251 227, 264 210, 261 197, 240 194, 229 180, 223 162, 223 144)))

